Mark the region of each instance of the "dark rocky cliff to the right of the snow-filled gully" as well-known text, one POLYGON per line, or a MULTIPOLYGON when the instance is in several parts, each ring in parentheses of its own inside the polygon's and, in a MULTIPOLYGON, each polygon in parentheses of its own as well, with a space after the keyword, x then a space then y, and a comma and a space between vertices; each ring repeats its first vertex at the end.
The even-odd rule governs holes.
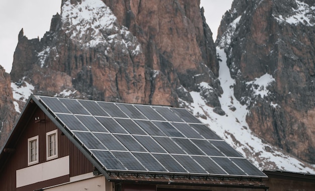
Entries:
POLYGON ((235 97, 250 110, 250 128, 311 163, 315 163, 314 9, 312 1, 234 1, 216 41, 228 57, 235 97), (270 83, 257 85, 262 77, 269 77, 270 83))

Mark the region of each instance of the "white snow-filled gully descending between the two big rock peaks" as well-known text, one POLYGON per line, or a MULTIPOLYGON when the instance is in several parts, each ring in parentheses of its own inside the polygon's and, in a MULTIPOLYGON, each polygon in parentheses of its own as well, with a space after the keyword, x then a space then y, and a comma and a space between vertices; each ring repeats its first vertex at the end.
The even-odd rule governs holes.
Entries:
MULTIPOLYGON (((188 109, 199 119, 207 124, 213 131, 226 140, 240 153, 247 156, 260 169, 279 169, 294 172, 315 173, 311 165, 286 154, 284 151, 265 143, 258 136, 253 134, 247 122, 248 110, 246 105, 242 105, 233 93, 234 80, 230 77, 229 69, 226 65, 226 54, 223 49, 217 48, 220 55, 219 80, 223 89, 223 94, 219 98, 221 108, 225 115, 221 116, 213 112, 213 108, 206 105, 205 99, 199 92, 190 92, 194 102, 188 104, 188 109), (206 116, 206 119, 205 117, 206 116)), ((266 87, 274 81, 273 77, 265 74, 252 82, 259 86, 255 95, 266 96, 266 87)), ((201 83, 200 86, 204 86, 201 83)), ((181 101, 181 100, 180 100, 181 101)))

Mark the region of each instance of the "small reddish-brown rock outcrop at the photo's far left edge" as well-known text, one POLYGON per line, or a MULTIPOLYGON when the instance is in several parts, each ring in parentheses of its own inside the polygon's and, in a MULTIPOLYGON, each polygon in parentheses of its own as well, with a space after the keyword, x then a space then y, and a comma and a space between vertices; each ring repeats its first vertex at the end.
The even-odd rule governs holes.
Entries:
POLYGON ((5 143, 16 119, 17 112, 13 103, 11 78, 0 66, 0 149, 5 143))

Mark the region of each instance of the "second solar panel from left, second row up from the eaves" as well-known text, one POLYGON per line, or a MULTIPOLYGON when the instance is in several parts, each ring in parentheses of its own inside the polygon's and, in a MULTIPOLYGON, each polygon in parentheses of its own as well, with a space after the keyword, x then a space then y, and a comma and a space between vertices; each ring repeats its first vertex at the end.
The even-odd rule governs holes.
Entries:
POLYGON ((109 150, 127 150, 112 134, 94 133, 109 150))

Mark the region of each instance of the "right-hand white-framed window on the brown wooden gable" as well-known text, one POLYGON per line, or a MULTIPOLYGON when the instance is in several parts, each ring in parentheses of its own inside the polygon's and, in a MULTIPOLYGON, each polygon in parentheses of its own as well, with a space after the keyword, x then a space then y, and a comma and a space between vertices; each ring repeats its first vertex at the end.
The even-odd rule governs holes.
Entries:
POLYGON ((58 157, 57 129, 46 133, 47 160, 58 157))

